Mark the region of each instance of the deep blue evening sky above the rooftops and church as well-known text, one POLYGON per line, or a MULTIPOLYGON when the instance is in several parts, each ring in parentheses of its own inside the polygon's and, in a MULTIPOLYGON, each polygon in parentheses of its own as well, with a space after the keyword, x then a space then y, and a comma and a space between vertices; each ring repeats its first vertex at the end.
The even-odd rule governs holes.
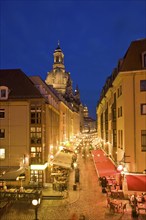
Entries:
POLYGON ((131 41, 146 37, 146 0, 0 0, 0 68, 46 79, 58 40, 73 87, 96 104, 131 41))

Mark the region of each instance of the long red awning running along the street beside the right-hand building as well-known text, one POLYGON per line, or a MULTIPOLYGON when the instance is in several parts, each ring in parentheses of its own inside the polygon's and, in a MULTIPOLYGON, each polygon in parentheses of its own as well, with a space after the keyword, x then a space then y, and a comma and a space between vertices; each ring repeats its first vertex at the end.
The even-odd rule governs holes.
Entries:
POLYGON ((116 175, 119 173, 116 166, 102 150, 93 150, 92 156, 96 171, 100 177, 116 175))

